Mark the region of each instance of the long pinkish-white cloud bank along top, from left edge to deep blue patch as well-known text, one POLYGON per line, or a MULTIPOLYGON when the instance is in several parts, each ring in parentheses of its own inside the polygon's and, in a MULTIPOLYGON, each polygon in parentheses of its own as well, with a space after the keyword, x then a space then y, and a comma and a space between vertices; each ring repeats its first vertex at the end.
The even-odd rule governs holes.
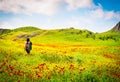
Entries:
POLYGON ((0 0, 0 10, 11 13, 54 15, 67 4, 67 9, 91 8, 93 0, 0 0))

